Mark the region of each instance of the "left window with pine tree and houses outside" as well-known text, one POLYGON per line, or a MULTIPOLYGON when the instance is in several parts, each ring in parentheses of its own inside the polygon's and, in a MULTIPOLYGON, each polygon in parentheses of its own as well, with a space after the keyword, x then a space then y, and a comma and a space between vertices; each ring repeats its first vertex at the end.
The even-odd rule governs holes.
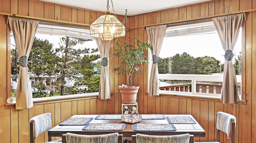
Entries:
MULTIPOLYGON (((12 77, 19 76, 18 60, 11 36, 12 77)), ((40 22, 28 59, 28 68, 31 85, 36 87, 32 88, 34 91, 52 90, 56 94, 54 96, 98 92, 101 63, 96 42, 90 36, 89 29, 40 22), (95 67, 99 72, 94 70, 95 67)), ((12 91, 15 91, 16 86, 11 85, 12 91)), ((52 95, 41 97, 45 96, 52 95)))

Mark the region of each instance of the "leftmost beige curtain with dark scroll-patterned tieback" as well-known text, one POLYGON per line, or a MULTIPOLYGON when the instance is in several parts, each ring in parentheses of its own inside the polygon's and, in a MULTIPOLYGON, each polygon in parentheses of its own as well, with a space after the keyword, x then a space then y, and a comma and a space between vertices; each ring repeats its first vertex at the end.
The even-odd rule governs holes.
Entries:
POLYGON ((39 21, 31 19, 9 18, 9 24, 20 58, 20 71, 16 90, 16 109, 33 107, 32 88, 27 64, 38 23, 39 21))

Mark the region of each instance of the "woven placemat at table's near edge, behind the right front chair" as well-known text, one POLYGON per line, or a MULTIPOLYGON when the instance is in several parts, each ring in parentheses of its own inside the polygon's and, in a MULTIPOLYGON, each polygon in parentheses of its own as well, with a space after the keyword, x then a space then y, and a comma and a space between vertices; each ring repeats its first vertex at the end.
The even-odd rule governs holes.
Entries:
POLYGON ((176 131, 173 124, 134 124, 134 131, 176 131))

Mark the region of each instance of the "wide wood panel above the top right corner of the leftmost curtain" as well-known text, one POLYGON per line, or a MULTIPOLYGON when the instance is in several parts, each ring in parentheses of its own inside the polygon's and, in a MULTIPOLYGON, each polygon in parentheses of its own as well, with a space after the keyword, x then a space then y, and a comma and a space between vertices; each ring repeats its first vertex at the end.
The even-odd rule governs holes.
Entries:
POLYGON ((44 18, 44 3, 38 1, 30 1, 29 16, 44 18))

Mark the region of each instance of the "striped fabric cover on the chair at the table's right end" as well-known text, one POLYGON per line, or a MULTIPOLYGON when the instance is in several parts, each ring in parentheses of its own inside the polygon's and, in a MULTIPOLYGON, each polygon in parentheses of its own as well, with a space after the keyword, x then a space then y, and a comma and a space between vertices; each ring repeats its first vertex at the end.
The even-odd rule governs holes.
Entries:
POLYGON ((231 121, 236 123, 236 117, 224 112, 218 112, 217 129, 225 132, 227 138, 230 138, 231 121))

